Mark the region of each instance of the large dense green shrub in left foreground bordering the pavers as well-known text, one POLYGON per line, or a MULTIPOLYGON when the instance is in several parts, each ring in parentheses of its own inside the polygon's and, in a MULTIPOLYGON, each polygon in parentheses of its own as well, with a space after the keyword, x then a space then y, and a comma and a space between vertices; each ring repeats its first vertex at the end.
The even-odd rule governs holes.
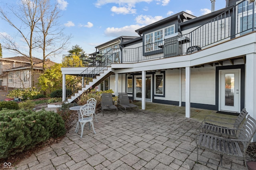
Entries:
POLYGON ((50 137, 65 134, 62 117, 54 111, 0 111, 0 158, 32 149, 50 137))

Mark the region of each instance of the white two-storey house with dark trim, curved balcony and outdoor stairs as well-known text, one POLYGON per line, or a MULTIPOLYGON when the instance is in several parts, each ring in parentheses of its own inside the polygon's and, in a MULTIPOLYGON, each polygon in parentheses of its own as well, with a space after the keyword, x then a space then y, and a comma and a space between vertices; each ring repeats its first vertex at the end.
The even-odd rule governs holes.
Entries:
POLYGON ((135 30, 140 37, 119 44, 120 63, 112 49, 102 53, 105 65, 62 68, 63 87, 66 74, 83 77, 82 90, 68 101, 107 79, 115 95, 127 92, 142 109, 146 101, 186 106, 190 117, 190 107, 231 113, 245 107, 256 119, 255 10, 255 2, 226 0, 226 8, 204 16, 180 12, 135 30))

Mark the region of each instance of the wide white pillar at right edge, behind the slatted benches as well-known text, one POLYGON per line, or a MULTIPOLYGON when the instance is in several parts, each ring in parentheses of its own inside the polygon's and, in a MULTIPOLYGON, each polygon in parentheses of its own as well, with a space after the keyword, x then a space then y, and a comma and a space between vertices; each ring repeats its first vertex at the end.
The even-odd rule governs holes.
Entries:
MULTIPOLYGON (((248 115, 256 119, 256 54, 246 55, 245 108, 248 115)), ((253 142, 256 142, 254 135, 253 142)))

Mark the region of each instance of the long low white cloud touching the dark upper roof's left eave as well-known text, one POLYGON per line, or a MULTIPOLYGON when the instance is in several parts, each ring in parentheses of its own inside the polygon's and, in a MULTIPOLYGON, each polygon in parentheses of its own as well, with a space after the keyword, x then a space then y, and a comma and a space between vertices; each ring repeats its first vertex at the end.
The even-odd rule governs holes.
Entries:
POLYGON ((134 30, 141 27, 144 27, 144 25, 128 25, 121 28, 108 27, 105 30, 105 35, 108 37, 120 37, 122 35, 138 36, 138 34, 134 30))

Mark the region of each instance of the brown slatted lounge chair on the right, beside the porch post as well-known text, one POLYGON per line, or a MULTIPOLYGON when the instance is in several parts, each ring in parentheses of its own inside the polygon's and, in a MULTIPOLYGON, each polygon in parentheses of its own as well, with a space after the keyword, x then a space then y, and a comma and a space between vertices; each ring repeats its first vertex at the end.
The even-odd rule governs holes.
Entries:
POLYGON ((119 107, 120 110, 124 112, 126 112, 127 108, 132 108, 132 109, 137 108, 138 110, 138 106, 136 106, 135 104, 132 104, 132 100, 129 100, 127 93, 118 93, 118 100, 119 100, 118 106, 120 106, 119 107))

